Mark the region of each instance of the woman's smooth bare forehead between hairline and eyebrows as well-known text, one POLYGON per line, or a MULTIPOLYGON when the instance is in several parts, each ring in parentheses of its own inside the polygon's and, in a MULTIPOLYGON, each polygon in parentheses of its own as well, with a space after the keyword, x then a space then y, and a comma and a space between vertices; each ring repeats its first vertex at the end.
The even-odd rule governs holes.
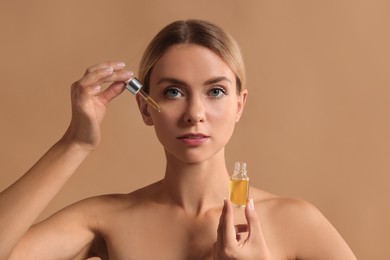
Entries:
POLYGON ((229 65, 206 47, 185 44, 173 45, 154 65, 151 81, 173 77, 184 81, 207 81, 213 77, 227 77, 235 82, 229 65))

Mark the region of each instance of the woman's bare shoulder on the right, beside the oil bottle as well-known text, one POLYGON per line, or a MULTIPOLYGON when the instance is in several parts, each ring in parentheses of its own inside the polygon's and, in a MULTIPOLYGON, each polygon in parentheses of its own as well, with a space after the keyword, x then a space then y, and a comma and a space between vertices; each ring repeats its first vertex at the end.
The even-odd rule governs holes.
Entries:
POLYGON ((356 259, 351 249, 313 204, 253 189, 255 209, 264 233, 290 247, 297 259, 356 259))

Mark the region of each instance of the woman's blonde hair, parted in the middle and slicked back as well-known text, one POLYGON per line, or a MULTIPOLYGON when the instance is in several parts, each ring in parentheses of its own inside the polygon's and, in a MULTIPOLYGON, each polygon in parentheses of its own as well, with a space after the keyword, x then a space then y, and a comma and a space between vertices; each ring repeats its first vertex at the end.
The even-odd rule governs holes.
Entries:
POLYGON ((149 92, 153 66, 172 45, 196 44, 216 53, 236 75, 237 93, 245 86, 245 67, 236 41, 220 27, 202 20, 176 21, 149 43, 139 65, 139 80, 149 92))

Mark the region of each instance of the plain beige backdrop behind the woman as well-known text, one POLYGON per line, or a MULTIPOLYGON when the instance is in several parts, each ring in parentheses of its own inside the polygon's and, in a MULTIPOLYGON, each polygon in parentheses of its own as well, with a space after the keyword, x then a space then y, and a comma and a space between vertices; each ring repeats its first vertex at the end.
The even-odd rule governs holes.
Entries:
MULTIPOLYGON (((176 19, 215 22, 239 42, 249 100, 228 146, 252 184, 315 204, 359 259, 389 259, 388 1, 2 1, 0 189, 64 132, 69 86, 85 68, 136 70, 176 19)), ((163 176, 164 157, 134 98, 110 105, 103 142, 43 217, 82 198, 163 176)))

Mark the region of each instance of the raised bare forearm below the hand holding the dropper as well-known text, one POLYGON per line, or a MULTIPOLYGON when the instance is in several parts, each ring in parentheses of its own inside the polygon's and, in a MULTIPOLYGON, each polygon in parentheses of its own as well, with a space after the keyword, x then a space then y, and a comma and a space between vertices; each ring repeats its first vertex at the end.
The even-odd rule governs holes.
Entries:
POLYGON ((0 195, 0 259, 34 223, 88 152, 55 144, 23 177, 0 195))

